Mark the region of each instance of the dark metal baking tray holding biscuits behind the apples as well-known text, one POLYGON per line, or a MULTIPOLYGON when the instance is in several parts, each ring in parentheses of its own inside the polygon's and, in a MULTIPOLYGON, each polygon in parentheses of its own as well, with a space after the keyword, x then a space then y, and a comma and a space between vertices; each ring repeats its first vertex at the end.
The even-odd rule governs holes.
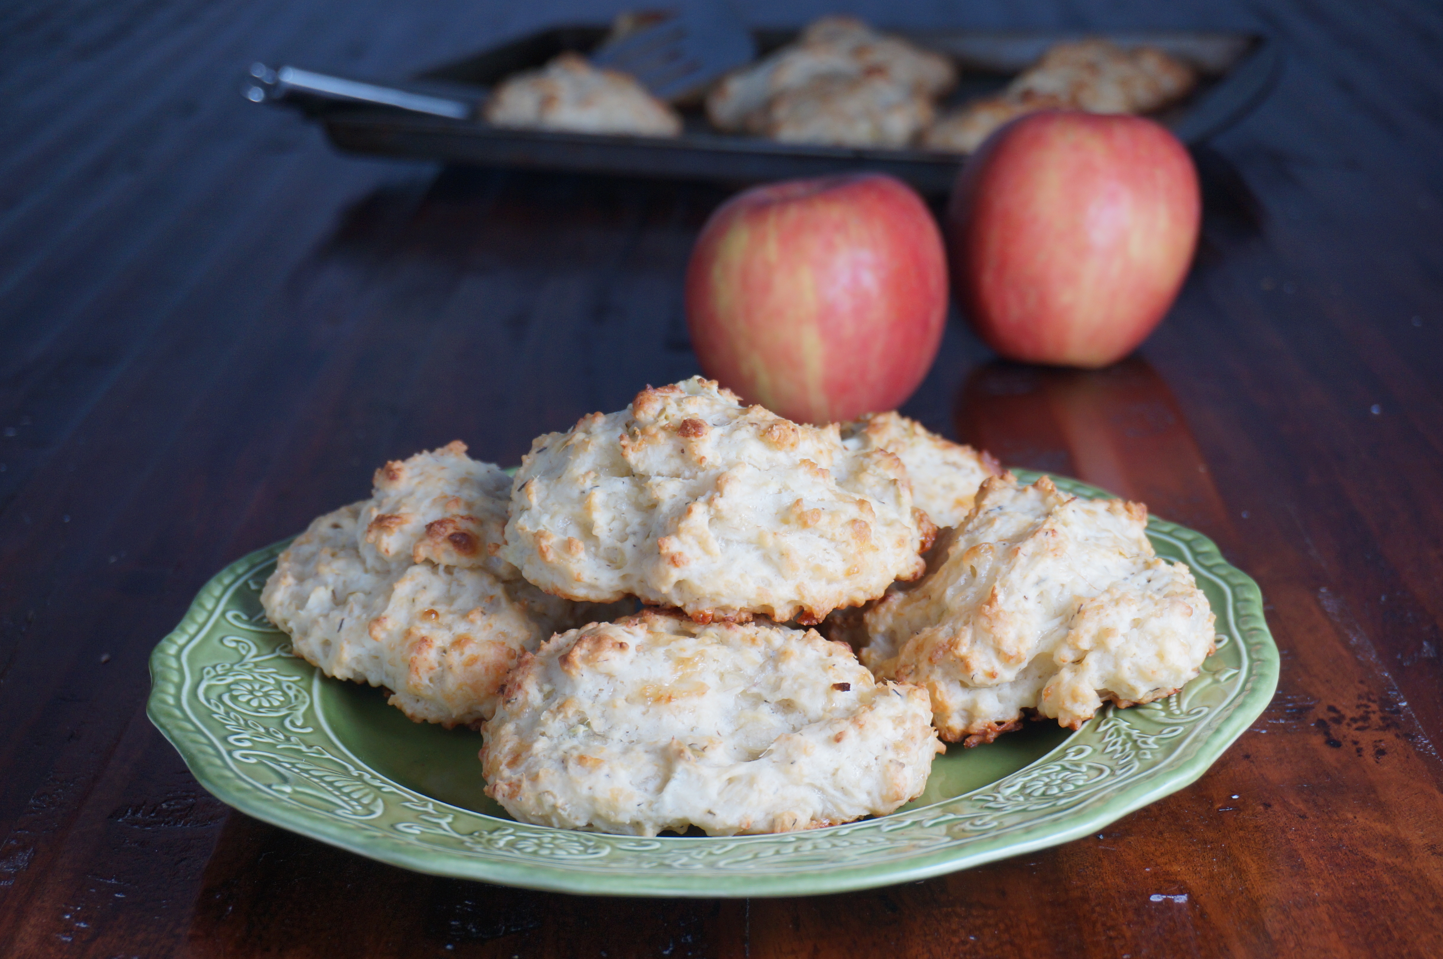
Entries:
MULTIPOLYGON (((472 90, 478 100, 506 75, 538 66, 561 51, 586 52, 606 26, 558 26, 437 66, 413 78, 472 90)), ((1105 36, 1120 45, 1147 43, 1190 61, 1202 82, 1183 103, 1156 114, 1185 143, 1199 143, 1237 123, 1271 90, 1280 68, 1277 48, 1255 33, 1134 30, 1101 33, 997 33, 978 30, 890 30, 919 46, 951 55, 961 84, 947 105, 993 92, 1033 64, 1052 43, 1105 36)), ((756 30, 760 51, 788 43, 797 30, 756 30)), ((329 105, 317 111, 330 140, 343 150, 426 157, 449 163, 530 166, 633 176, 747 183, 789 176, 851 170, 892 173, 924 192, 951 188, 961 156, 931 150, 799 146, 717 133, 700 107, 683 110, 685 129, 677 139, 553 133, 492 127, 482 121, 404 114, 377 107, 329 105)))

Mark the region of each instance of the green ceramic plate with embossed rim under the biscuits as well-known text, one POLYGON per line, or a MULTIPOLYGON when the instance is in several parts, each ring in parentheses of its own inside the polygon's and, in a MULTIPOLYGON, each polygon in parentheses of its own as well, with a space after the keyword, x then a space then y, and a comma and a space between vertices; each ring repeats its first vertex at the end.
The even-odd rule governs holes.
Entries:
POLYGON ((290 654, 260 607, 284 543, 201 591, 150 657, 149 713, 235 809, 420 872, 605 895, 810 895, 921 880, 1097 832, 1202 776, 1263 712, 1278 656, 1257 583, 1192 530, 1154 518, 1149 536, 1192 566, 1218 615, 1218 650, 1198 679, 1147 706, 1108 706, 1078 732, 1038 722, 951 747, 921 799, 846 826, 638 839, 511 820, 482 796, 479 734, 414 725, 380 690, 290 654))

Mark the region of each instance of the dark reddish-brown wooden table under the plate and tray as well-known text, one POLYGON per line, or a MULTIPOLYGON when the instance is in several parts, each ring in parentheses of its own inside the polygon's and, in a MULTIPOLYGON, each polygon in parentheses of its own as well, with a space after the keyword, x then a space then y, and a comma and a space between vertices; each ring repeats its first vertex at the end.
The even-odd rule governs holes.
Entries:
POLYGON ((612 6, 16 0, 0 953, 1443 955, 1443 12, 856 9, 1283 45, 1273 97, 1198 153, 1202 250, 1136 357, 1012 367, 954 318, 906 409, 1214 537, 1261 583, 1283 650, 1263 718, 1097 838, 820 898, 532 894, 228 812, 143 711, 146 657, 201 583, 361 497, 388 456, 463 438, 514 462, 534 433, 694 373, 681 276, 726 192, 345 157, 237 95, 251 59, 403 75, 612 6))

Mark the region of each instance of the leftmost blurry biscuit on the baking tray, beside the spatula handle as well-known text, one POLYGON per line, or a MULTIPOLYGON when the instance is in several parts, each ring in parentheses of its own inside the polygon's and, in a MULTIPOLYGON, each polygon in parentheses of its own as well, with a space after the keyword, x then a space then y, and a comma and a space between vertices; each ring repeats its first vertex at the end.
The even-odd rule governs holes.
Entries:
POLYGON ((561 53, 541 69, 508 77, 482 110, 498 127, 681 134, 681 116, 652 97, 631 74, 597 69, 577 53, 561 53))

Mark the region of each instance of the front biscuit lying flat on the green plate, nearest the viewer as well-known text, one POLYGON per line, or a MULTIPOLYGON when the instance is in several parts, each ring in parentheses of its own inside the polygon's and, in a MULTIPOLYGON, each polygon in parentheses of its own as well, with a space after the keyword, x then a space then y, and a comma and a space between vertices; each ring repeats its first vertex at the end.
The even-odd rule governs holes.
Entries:
POLYGON ((883 816, 942 751, 926 693, 815 631, 646 611, 557 635, 483 726, 486 794, 521 822, 654 836, 883 816))

